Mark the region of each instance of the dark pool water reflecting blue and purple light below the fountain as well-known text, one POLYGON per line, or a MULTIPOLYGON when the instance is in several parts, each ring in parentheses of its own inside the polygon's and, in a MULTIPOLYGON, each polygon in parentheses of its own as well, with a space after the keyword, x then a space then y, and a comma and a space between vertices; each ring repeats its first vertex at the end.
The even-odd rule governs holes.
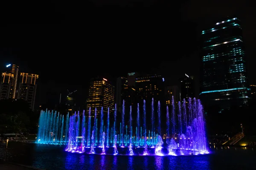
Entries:
MULTIPOLYGON (((113 156, 70 153, 61 145, 9 142, 0 158, 47 170, 227 170, 256 169, 256 152, 245 147, 215 147, 189 156, 113 156)), ((255 148, 256 149, 256 148, 255 148)), ((107 148, 108 150, 108 148, 107 148)))

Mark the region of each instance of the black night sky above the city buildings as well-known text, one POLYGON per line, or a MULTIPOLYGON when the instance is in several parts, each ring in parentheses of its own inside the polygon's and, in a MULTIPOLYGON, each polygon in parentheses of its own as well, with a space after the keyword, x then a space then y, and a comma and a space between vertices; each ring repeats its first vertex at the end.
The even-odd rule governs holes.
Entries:
POLYGON ((128 72, 163 74, 176 84, 199 75, 199 38, 227 16, 242 21, 250 84, 256 84, 256 15, 238 0, 22 1, 2 4, 0 67, 17 63, 39 74, 37 104, 66 89, 86 98, 89 79, 114 81, 128 72), (11 24, 12 23, 12 24, 11 24), (14 24, 15 23, 15 24, 14 24))

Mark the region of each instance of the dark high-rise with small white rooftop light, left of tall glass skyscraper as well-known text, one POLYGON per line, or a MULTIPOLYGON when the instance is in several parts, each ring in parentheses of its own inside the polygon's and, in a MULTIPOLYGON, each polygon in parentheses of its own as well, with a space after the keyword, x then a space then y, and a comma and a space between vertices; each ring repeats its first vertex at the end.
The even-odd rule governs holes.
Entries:
POLYGON ((187 74, 180 79, 180 99, 188 99, 195 97, 194 79, 193 76, 187 74))

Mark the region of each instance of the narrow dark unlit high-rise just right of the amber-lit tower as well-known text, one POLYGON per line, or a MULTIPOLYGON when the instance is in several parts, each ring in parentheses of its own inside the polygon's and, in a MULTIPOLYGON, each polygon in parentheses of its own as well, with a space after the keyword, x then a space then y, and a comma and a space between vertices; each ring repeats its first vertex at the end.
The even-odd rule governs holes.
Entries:
POLYGON ((125 99, 125 91, 128 88, 127 78, 119 77, 116 80, 116 109, 119 113, 122 110, 122 101, 125 99))

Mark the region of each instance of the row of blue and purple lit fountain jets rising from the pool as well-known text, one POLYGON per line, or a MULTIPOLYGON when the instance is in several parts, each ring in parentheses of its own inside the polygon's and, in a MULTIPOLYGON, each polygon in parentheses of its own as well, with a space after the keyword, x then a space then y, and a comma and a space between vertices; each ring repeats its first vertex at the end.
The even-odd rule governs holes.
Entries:
MULTIPOLYGON (((73 115, 67 114, 66 117, 57 112, 41 111, 36 143, 66 144, 65 150, 73 153, 96 153, 97 150, 94 150, 94 148, 97 146, 102 147, 100 154, 105 154, 109 150, 106 147, 112 145, 112 142, 113 154, 115 155, 118 153, 118 147, 125 147, 119 150, 119 153, 125 152, 127 149, 129 155, 140 154, 141 151, 143 155, 151 155, 153 150, 156 155, 160 156, 166 152, 171 156, 209 153, 207 151, 204 110, 201 101, 189 98, 187 102, 183 99, 175 105, 172 98, 171 103, 170 113, 168 106, 166 107, 166 129, 163 128, 164 126, 161 127, 163 116, 161 117, 160 102, 157 103, 158 119, 154 121, 151 117, 149 122, 146 120, 145 100, 143 101, 142 113, 139 104, 137 104, 137 124, 134 129, 131 106, 129 118, 125 122, 124 101, 120 116, 121 122, 117 122, 115 110, 113 124, 111 124, 110 115, 112 113, 109 108, 106 121, 103 120, 103 108, 101 108, 99 124, 97 110, 95 109, 93 125, 91 125, 91 109, 88 110, 87 114, 83 112, 81 116, 79 112, 75 112, 73 115), (141 119, 143 121, 142 126, 140 126, 141 119), (135 135, 133 131, 136 132, 135 135), (133 146, 135 146, 134 150, 133 146)), ((153 99, 149 115, 154 116, 153 99)))

